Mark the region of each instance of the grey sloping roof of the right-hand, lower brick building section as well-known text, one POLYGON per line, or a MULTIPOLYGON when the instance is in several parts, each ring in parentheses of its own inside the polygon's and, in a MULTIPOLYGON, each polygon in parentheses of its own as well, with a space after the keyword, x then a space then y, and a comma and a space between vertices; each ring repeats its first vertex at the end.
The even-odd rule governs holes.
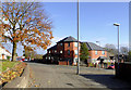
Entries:
POLYGON ((82 42, 86 43, 88 50, 100 50, 100 51, 106 51, 104 48, 93 43, 93 42, 82 42))

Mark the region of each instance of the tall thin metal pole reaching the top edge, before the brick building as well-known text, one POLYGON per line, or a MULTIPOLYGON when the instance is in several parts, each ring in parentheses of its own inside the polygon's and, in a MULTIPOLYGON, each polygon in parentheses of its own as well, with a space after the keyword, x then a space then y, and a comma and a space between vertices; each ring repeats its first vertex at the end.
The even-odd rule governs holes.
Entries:
POLYGON ((79 59, 79 0, 78 0, 78 68, 76 75, 80 74, 80 59, 79 59))

